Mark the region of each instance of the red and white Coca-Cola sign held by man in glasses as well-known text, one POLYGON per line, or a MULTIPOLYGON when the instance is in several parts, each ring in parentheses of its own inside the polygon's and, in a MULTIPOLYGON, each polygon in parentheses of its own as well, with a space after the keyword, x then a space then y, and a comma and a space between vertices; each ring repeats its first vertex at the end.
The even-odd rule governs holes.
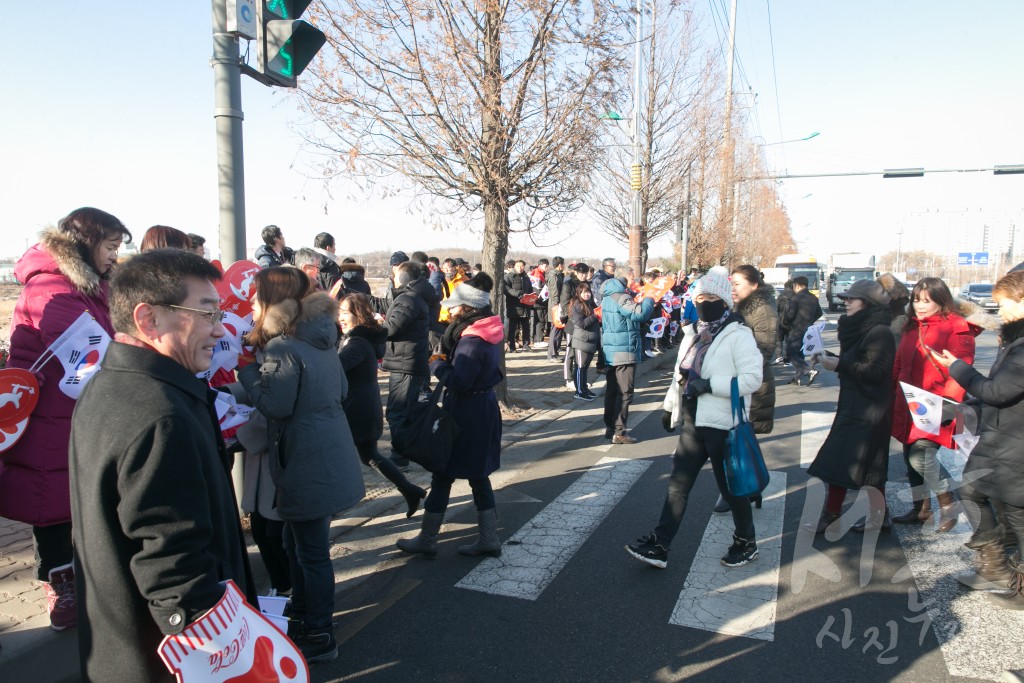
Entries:
POLYGON ((178 683, 308 683, 299 648, 246 602, 234 582, 213 609, 160 644, 178 683))

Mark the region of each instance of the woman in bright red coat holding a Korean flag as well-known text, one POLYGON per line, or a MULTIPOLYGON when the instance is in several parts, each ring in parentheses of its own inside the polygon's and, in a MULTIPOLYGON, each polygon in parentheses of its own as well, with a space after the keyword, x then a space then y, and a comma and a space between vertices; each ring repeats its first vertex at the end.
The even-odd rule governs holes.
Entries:
POLYGON ((981 328, 967 322, 953 301, 946 284, 938 278, 918 282, 910 295, 908 319, 896 350, 893 368, 893 436, 903 444, 907 479, 913 493, 913 508, 893 517, 900 524, 924 524, 932 518, 932 495, 939 502, 937 530, 946 532, 956 525, 958 508, 949 493, 949 481, 941 476, 937 458, 939 447, 952 446, 953 425, 940 428, 938 434, 919 429, 910 419, 906 396, 900 387, 905 382, 914 387, 959 402, 964 389, 950 379, 949 372, 936 362, 930 351, 948 349, 957 358, 974 362, 974 338, 981 328), (927 484, 928 488, 925 488, 927 484))

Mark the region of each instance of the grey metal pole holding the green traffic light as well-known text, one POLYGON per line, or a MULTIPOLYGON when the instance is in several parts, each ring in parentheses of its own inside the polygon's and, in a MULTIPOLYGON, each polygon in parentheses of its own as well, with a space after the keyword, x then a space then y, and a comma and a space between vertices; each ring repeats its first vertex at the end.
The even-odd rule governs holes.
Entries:
POLYGON ((242 66, 239 39, 227 33, 227 3, 213 5, 213 119, 217 125, 219 247, 224 265, 246 257, 246 191, 242 157, 242 66))

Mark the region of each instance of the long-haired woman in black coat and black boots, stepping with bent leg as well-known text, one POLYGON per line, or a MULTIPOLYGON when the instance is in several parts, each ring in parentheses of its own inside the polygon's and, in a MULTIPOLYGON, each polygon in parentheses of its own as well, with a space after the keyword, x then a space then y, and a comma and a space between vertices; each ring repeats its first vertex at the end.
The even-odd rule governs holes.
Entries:
POLYGON ((377 384, 377 361, 384 357, 384 343, 387 331, 374 317, 370 297, 358 292, 346 293, 338 305, 338 322, 341 324, 341 345, 338 357, 348 380, 348 395, 343 403, 348 426, 352 430, 355 450, 359 460, 367 467, 381 473, 398 488, 406 499, 407 517, 412 517, 420 509, 427 492, 417 486, 401 473, 398 466, 388 458, 382 458, 377 450, 377 440, 384 433, 384 409, 381 407, 381 391, 377 384))

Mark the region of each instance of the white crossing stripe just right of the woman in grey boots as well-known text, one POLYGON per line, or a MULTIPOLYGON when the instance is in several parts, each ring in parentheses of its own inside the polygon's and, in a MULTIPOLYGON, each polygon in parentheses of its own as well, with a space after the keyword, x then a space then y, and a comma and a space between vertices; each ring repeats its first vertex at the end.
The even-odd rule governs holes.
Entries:
POLYGON ((456 586, 537 600, 647 468, 648 460, 604 457, 456 586))

